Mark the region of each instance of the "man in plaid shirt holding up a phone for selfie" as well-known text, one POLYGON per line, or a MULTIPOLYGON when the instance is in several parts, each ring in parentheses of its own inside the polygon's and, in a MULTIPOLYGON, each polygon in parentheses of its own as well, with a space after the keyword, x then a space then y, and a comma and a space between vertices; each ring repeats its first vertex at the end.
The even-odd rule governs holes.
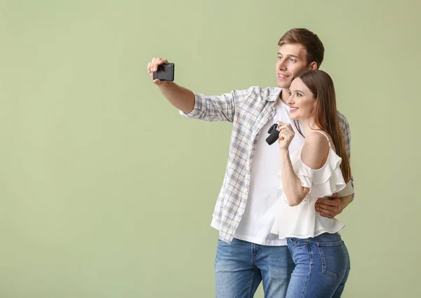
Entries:
MULTIPOLYGON (((217 297, 253 297, 260 282, 265 297, 285 297, 295 266, 286 241, 270 233, 281 195, 277 177, 280 154, 278 147, 269 146, 265 139, 276 121, 293 125, 286 104, 290 83, 303 70, 320 67, 324 48, 316 34, 301 28, 290 29, 278 45, 277 87, 253 86, 209 97, 173 82, 153 81, 183 116, 233 123, 227 171, 211 223, 220 231, 215 260, 217 297)), ((148 63, 151 79, 158 65, 165 62, 155 57, 148 63)), ((350 154, 349 125, 339 111, 338 116, 350 154)), ((303 138, 296 132, 289 151, 302 144, 303 138)), ((349 187, 354 187, 352 182, 349 187)), ((325 217, 335 217, 350 201, 352 196, 319 199, 315 208, 325 217)))

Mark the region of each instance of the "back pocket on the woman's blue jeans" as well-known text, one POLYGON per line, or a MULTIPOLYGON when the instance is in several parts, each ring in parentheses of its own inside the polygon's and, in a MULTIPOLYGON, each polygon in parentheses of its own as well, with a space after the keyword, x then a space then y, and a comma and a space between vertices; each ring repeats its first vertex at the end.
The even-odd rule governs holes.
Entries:
POLYGON ((321 259, 321 272, 338 278, 347 269, 347 250, 343 241, 316 243, 321 259))

